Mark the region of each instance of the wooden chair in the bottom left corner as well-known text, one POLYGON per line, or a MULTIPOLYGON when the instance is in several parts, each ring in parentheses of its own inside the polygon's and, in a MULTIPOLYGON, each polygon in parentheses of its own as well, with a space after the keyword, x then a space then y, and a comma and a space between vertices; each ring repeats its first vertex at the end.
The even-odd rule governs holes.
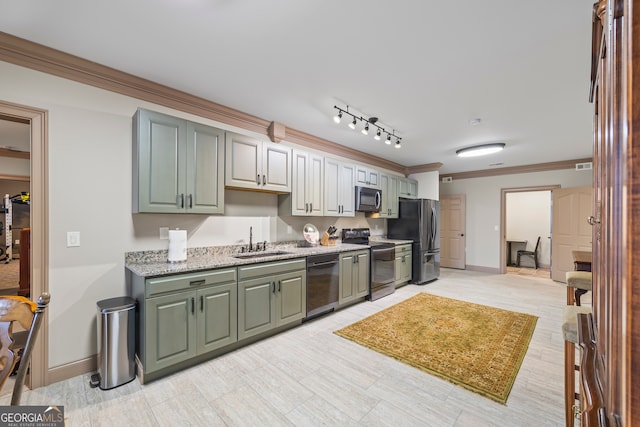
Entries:
POLYGON ((29 360, 49 300, 47 293, 40 295, 37 303, 21 296, 0 297, 0 388, 19 363, 11 406, 20 403, 29 360), (23 332, 14 333, 16 322, 24 328, 23 332))

